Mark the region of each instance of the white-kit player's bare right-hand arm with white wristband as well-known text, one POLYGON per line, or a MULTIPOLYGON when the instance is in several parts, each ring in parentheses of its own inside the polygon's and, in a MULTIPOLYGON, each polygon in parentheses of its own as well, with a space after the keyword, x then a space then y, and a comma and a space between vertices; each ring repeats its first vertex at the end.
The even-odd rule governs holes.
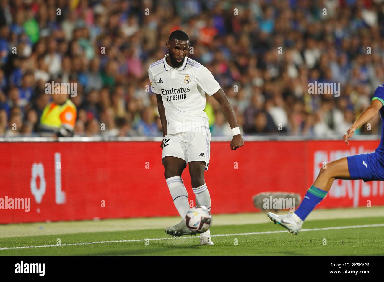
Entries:
MULTIPOLYGON (((220 104, 220 107, 223 111, 225 118, 228 120, 229 125, 232 129, 236 129, 238 127, 235 111, 231 103, 229 102, 227 95, 225 95, 223 89, 219 89, 215 94, 212 95, 215 100, 220 104)), ((239 147, 244 146, 243 138, 240 134, 240 130, 238 130, 239 134, 233 135, 232 141, 230 143, 231 149, 236 150, 239 147)))

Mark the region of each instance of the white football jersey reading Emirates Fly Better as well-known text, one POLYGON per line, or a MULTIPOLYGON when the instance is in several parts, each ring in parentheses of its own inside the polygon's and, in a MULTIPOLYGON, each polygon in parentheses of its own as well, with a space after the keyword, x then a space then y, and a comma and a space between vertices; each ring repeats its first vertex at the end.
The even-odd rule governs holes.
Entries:
POLYGON ((205 109, 205 93, 209 96, 220 90, 210 71, 188 57, 180 68, 163 59, 151 64, 148 76, 151 90, 160 94, 167 118, 167 133, 185 132, 196 127, 209 128, 205 109))

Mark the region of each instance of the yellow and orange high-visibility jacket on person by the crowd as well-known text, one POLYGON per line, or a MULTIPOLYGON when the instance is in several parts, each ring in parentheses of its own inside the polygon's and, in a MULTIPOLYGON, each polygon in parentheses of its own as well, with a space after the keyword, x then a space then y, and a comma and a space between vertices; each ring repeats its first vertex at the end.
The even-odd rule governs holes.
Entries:
POLYGON ((76 106, 70 99, 67 99, 63 105, 51 102, 43 110, 40 129, 45 132, 57 132, 63 125, 74 129, 75 122, 76 106))

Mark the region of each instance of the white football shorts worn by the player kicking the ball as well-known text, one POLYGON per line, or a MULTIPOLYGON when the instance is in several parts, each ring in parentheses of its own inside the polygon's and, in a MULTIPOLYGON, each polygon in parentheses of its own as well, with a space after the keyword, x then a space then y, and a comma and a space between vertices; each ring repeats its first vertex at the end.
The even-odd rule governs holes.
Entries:
POLYGON ((211 133, 207 127, 197 127, 186 132, 167 134, 163 138, 161 159, 167 156, 182 158, 188 162, 205 162, 208 170, 211 149, 211 133))

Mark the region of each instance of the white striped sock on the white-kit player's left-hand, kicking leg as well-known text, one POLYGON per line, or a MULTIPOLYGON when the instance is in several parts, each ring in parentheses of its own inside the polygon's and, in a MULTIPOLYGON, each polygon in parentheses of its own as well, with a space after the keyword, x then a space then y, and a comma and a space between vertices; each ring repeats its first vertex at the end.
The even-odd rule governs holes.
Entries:
POLYGON ((185 214, 190 208, 188 203, 188 193, 184 187, 183 180, 181 179, 181 176, 173 176, 167 178, 166 181, 173 203, 180 216, 184 219, 185 214))

